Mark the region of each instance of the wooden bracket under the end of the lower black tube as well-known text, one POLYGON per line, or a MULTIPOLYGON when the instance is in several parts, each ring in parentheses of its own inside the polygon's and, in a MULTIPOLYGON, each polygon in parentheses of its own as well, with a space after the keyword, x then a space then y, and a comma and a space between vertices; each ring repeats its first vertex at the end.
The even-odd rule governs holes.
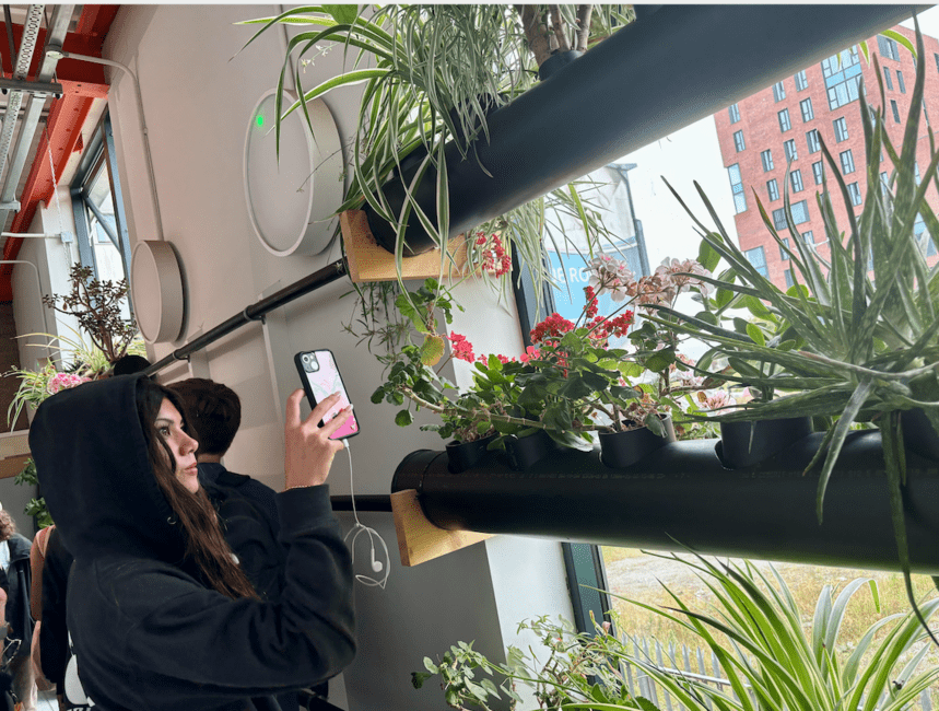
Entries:
POLYGON ((421 510, 414 489, 391 494, 391 513, 395 516, 401 564, 409 568, 492 538, 492 534, 437 528, 421 510))

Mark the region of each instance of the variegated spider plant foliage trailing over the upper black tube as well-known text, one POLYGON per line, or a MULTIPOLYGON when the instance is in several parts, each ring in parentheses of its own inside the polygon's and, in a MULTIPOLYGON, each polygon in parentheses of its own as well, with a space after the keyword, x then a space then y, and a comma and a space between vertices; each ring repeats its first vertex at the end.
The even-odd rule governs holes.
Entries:
MULTIPOLYGON (((391 4, 366 5, 362 11, 356 5, 309 5, 247 21, 245 24, 263 27, 245 46, 280 23, 306 28, 290 40, 280 74, 278 88, 282 90, 290 58, 296 55, 298 98, 284 106, 283 93, 278 92, 278 144, 281 121, 292 112, 305 114, 306 104, 314 98, 341 86, 365 84, 352 144, 351 186, 337 212, 367 205, 392 225, 400 275, 401 259, 408 254, 404 231, 409 221, 416 220, 437 246, 447 241, 450 198, 444 147, 454 143, 465 160, 477 160, 473 142, 489 137, 486 114, 537 81, 532 44, 548 37, 548 45, 556 45, 564 34, 557 28, 566 25, 577 31, 577 46, 586 47, 631 19, 625 5, 582 5, 577 11, 559 5, 391 4), (588 25, 585 44, 579 36, 584 34, 582 22, 588 25), (330 43, 343 53, 355 53, 352 68, 305 89, 302 67, 307 56, 330 43), (398 209, 385 185, 404 174, 409 165, 411 170, 416 165, 416 173, 404 186, 406 200, 398 209), (436 214, 427 214, 415 198, 424 179, 435 180, 436 214)), ((563 39, 560 46, 564 46, 563 39)), ((592 252, 597 229, 576 185, 555 191, 551 199, 573 206, 592 252)), ((538 288, 549 278, 541 252, 543 211, 543 202, 536 203, 492 221, 505 226, 504 242, 530 268, 538 288)), ((442 275, 446 259, 446 249, 441 249, 442 275)))

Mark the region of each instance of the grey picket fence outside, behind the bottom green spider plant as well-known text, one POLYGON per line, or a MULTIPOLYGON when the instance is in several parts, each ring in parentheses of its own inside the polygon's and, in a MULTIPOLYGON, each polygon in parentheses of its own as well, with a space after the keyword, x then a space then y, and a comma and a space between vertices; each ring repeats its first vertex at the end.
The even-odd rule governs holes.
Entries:
MULTIPOLYGON (((693 679, 701 684, 712 685, 715 687, 726 687, 727 691, 736 699, 737 695, 730 688, 730 681, 721 676, 720 664, 717 656, 711 652, 705 654, 701 648, 693 651, 684 644, 681 650, 676 650, 674 643, 669 642, 668 652, 662 649, 661 642, 654 640, 649 643, 647 638, 629 638, 627 642, 633 644, 633 654, 639 658, 646 660, 649 663, 655 663, 660 669, 668 674, 693 679), (709 656, 709 660, 707 658, 709 656), (707 664, 711 668, 707 668, 707 664), (696 668, 695 668, 696 666, 696 668)), ((629 648, 627 648, 629 649, 629 648)), ((686 707, 672 699, 671 695, 665 689, 658 687, 656 680, 647 675, 642 668, 632 665, 625 666, 626 685, 630 693, 633 697, 644 697, 655 703, 662 711, 688 711, 686 707)), ((878 701, 878 708, 885 698, 884 692, 878 701)), ((750 699, 756 706, 755 695, 750 691, 750 699)), ((711 699, 705 697, 705 706, 713 709, 711 699)), ((907 711, 934 711, 932 701, 929 698, 929 690, 923 691, 917 702, 906 707, 907 711)), ((939 711, 939 710, 937 710, 939 711)))

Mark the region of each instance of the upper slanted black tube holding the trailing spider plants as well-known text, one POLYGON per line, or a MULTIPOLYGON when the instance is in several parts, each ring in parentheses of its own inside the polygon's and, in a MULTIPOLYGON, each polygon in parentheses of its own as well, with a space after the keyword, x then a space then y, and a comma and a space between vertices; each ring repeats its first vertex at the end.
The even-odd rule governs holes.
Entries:
MULTIPOLYGON (((590 171, 909 18, 912 4, 662 5, 488 117, 490 141, 447 147, 449 234, 508 212, 590 171), (486 174, 484 165, 491 175, 486 174)), ((415 162, 416 163, 416 162, 415 162)), ((416 164, 383 189, 403 203, 416 164)), ((436 176, 416 200, 436 215, 436 176)), ((364 208, 379 244, 394 228, 364 208)), ((416 218, 411 252, 432 245, 416 218)))

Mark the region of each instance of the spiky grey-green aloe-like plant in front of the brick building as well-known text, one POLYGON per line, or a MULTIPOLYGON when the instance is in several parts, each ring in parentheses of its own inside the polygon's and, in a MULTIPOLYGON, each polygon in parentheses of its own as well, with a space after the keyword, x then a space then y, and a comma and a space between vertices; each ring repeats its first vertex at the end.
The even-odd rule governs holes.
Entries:
MULTIPOLYGON (((924 57, 918 23, 916 48, 918 56, 924 57)), ((873 62, 878 82, 881 82, 876 57, 873 62)), ((918 214, 930 238, 935 242, 939 237, 939 220, 926 201, 929 180, 918 184, 916 178, 925 65, 925 61, 917 62, 909 114, 899 150, 887 132, 882 84, 879 109, 868 105, 864 92, 860 94, 858 105, 867 155, 867 195, 860 214, 855 215, 838 166, 822 141, 824 158, 835 179, 834 190, 830 190, 826 178, 821 194, 817 194, 831 245, 830 260, 820 257, 814 247, 800 237, 791 215, 788 189, 785 210, 793 237, 789 244, 795 245, 795 249, 780 240, 756 197, 766 228, 791 260, 797 283, 787 291, 756 271, 720 225, 711 202, 697 187, 717 225, 714 232, 695 219, 703 233, 703 248, 717 253, 730 265, 730 276, 714 280, 715 285, 725 298, 749 302, 772 314, 782 324, 775 337, 764 339, 759 328, 751 328, 752 324, 746 322, 738 323, 736 330, 725 329, 720 320, 706 311, 697 316, 669 310, 659 312, 659 317, 669 323, 680 322, 679 330, 711 342, 712 356, 726 354, 738 362, 778 368, 772 375, 753 368, 752 372, 738 372, 737 377, 761 391, 775 389, 787 395, 770 401, 754 400, 718 420, 800 415, 837 417, 807 469, 823 461, 817 497, 820 522, 825 488, 852 423, 867 420, 880 427, 897 556, 914 609, 902 501, 906 461, 901 412, 922 408, 939 432, 939 268, 927 267, 914 235, 918 214), (890 185, 884 185, 880 177, 882 150, 895 168, 890 185), (842 197, 847 208, 847 229, 838 225, 835 219, 832 191, 842 197)), ((939 152, 934 149, 925 175, 936 176, 937 167, 939 152)), ((689 210, 681 198, 679 201, 689 210)), ((690 210, 689 214, 692 214, 690 210)))

